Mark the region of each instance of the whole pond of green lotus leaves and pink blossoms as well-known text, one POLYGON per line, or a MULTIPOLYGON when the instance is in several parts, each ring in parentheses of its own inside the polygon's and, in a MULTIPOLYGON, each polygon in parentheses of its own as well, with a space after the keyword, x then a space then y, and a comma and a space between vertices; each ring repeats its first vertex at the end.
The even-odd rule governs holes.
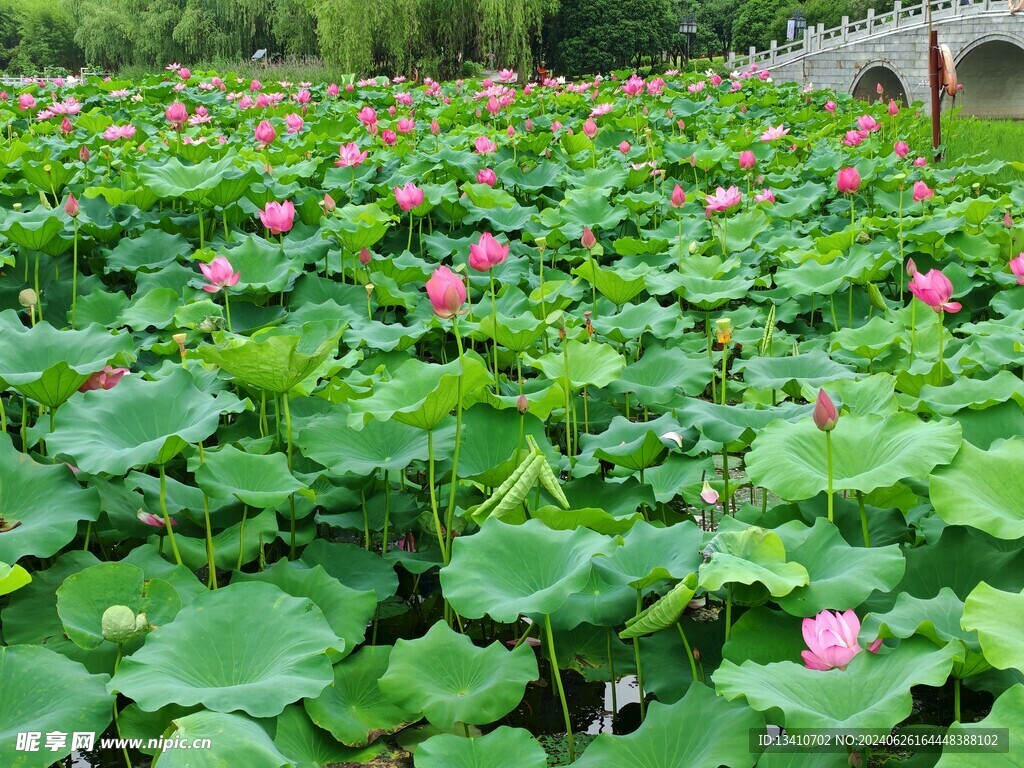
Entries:
POLYGON ((514 79, 3 94, 5 768, 1022 764, 1013 164, 514 79))

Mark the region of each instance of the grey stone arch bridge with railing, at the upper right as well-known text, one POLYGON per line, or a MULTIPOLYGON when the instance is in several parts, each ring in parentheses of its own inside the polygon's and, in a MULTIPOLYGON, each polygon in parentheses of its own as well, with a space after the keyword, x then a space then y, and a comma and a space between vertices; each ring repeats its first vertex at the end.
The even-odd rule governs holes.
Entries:
MULTIPOLYGON (((730 68, 757 63, 776 82, 814 83, 864 99, 874 97, 881 83, 887 95, 923 101, 930 112, 929 15, 939 43, 949 46, 956 62, 962 114, 1024 118, 1024 12, 1011 15, 1001 0, 925 0, 908 6, 896 0, 888 13, 869 10, 857 22, 844 16, 833 29, 808 27, 802 40, 731 54, 730 68)), ((944 97, 943 108, 949 102, 944 97)))

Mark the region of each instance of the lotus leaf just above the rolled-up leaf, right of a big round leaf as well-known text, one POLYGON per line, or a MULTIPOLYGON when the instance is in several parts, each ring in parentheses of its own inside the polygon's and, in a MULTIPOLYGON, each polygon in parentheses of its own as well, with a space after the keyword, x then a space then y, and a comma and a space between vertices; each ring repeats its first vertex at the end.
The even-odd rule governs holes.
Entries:
POLYGON ((640 521, 623 537, 623 546, 594 559, 594 568, 612 584, 636 590, 685 579, 700 565, 702 537, 689 520, 667 528, 640 521))

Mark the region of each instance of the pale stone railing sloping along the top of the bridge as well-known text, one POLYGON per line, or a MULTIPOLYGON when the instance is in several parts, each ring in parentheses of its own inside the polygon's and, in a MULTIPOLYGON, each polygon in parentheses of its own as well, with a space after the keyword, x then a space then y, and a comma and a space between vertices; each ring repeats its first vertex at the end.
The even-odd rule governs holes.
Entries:
MULTIPOLYGON (((975 2, 931 0, 931 11, 933 24, 946 24, 967 15, 1006 14, 1007 6, 1001 0, 976 0, 975 2)), ((772 40, 768 50, 759 51, 752 46, 746 55, 730 53, 729 68, 743 69, 751 65, 757 65, 759 68, 770 69, 783 63, 792 63, 804 56, 821 51, 834 50, 858 41, 889 35, 897 30, 927 26, 927 2, 904 7, 901 0, 896 0, 893 9, 888 13, 876 14, 873 10, 868 10, 866 18, 856 22, 851 22, 849 16, 843 16, 843 24, 839 27, 827 30, 824 25, 820 24, 816 28, 808 27, 803 39, 785 45, 779 45, 772 40)))

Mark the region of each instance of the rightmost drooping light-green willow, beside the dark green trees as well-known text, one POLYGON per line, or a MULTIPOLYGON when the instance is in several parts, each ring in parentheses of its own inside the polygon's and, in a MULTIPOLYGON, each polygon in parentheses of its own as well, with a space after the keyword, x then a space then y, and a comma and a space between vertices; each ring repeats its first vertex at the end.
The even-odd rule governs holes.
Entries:
POLYGON ((557 0, 479 0, 482 52, 494 66, 511 67, 521 74, 534 66, 534 42, 541 35, 546 14, 557 0))

